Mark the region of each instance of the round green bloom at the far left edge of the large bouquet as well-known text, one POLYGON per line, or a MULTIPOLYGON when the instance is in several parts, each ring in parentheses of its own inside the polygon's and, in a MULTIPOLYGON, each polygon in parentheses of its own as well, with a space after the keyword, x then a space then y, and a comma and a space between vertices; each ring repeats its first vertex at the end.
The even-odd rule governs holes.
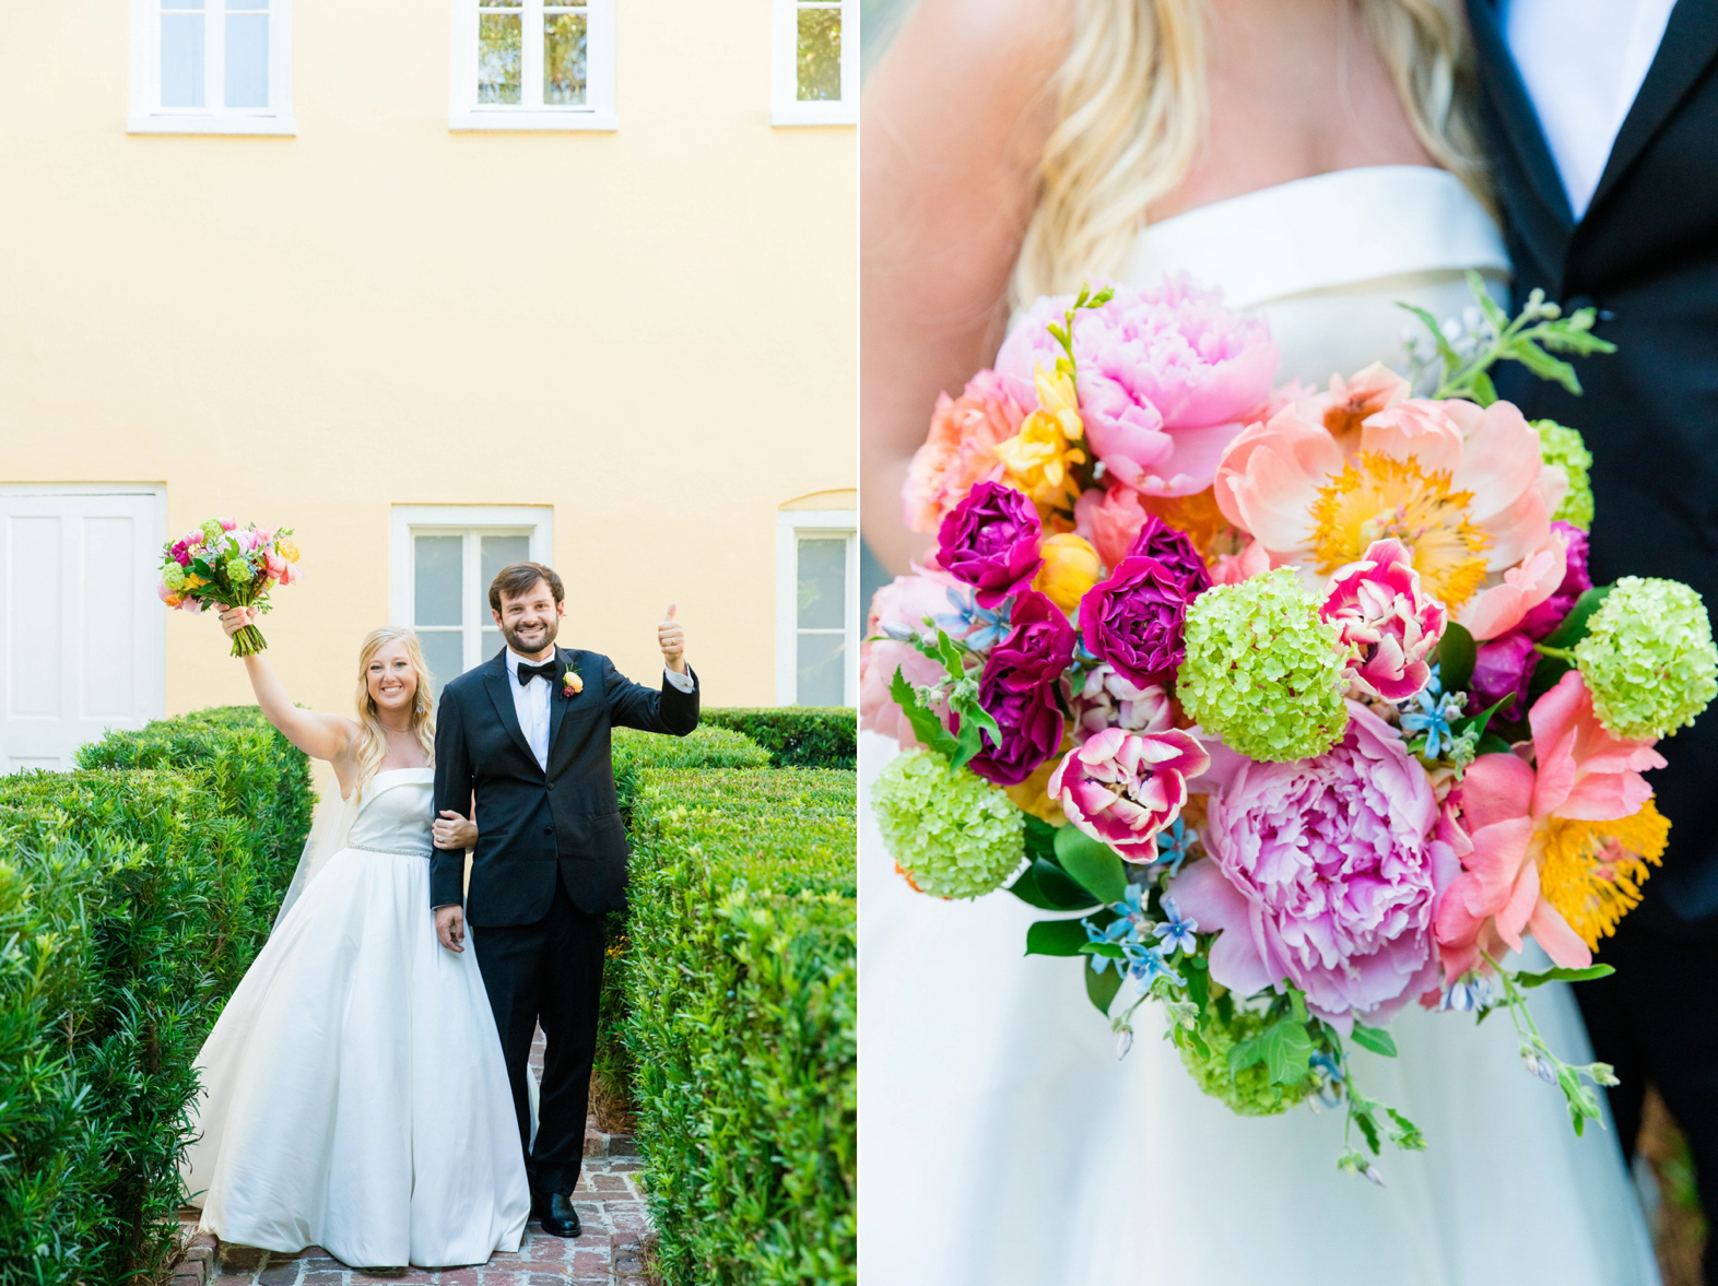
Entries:
POLYGON ((909 750, 878 774, 871 810, 883 843, 919 893, 978 898, 1026 858, 1026 817, 983 778, 909 750))

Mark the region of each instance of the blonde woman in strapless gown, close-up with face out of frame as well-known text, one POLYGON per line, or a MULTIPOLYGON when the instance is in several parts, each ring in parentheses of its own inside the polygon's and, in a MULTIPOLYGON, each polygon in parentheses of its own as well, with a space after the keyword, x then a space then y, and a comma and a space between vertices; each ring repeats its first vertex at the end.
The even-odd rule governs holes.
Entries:
MULTIPOLYGON (((1467 270, 1502 297, 1464 39, 1455 0, 921 0, 864 96, 869 546, 923 551, 899 498, 936 393, 1041 294, 1185 271, 1318 386, 1402 366, 1397 300, 1459 316, 1467 270)), ((861 779, 893 752, 866 733, 861 779)), ((911 891, 864 812, 868 1286, 1658 1279, 1615 1137, 1574 1137, 1508 1023, 1410 1006, 1398 1059, 1356 1054, 1429 1149, 1380 1190, 1337 1171, 1340 1113, 1235 1118, 1161 1028, 1117 1061, 1082 963, 1020 955, 1041 912, 911 891)), ((1563 984, 1534 1015, 1589 1058, 1563 984)))

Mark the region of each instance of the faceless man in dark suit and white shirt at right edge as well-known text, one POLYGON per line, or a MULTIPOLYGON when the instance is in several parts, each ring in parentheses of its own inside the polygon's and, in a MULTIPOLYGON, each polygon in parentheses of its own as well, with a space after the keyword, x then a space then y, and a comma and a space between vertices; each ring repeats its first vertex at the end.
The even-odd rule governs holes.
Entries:
MULTIPOLYGON (((1613 355, 1584 397, 1498 379, 1593 452, 1593 582, 1670 577, 1718 610, 1718 3, 1467 0, 1517 302, 1596 307, 1613 355)), ((1694 1152, 1718 1229, 1718 711, 1660 742, 1665 869, 1575 987, 1613 1063, 1624 1150, 1653 1083, 1694 1152)), ((1718 1234, 1706 1240, 1718 1281, 1718 1234)))

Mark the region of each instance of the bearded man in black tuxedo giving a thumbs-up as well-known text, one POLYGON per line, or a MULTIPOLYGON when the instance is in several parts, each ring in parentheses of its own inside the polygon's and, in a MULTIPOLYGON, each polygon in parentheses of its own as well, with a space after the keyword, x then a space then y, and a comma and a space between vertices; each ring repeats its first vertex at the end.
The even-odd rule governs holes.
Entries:
POLYGON ((613 726, 685 737, 698 726, 698 678, 673 606, 656 627, 661 690, 615 673, 596 652, 555 647, 560 577, 541 563, 503 567, 490 610, 507 649, 442 694, 435 807, 466 816, 476 795, 478 850, 435 850, 436 937, 464 951, 466 927, 490 994, 526 1150, 533 1214, 545 1233, 577 1236, 572 1190, 603 987, 603 915, 625 907, 627 834, 608 759, 613 726), (536 1142, 526 1090, 531 1039, 543 1025, 536 1142))

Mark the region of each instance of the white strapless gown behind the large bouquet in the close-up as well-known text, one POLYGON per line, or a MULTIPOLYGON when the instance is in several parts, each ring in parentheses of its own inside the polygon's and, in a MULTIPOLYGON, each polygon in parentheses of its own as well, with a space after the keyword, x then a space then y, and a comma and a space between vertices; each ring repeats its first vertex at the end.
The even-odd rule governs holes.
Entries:
MULTIPOLYGON (((1282 379, 1323 386, 1373 361, 1400 369, 1410 316, 1395 302, 1459 316, 1467 268, 1507 282, 1465 189, 1371 167, 1149 227, 1122 280, 1185 270, 1221 287, 1270 318, 1282 379)), ((1117 1061, 1084 961, 1022 955, 1041 912, 914 893, 864 793, 893 754, 861 738, 862 1286, 1658 1281, 1615 1135, 1574 1137, 1505 1013, 1476 1028, 1409 1006, 1390 1025, 1398 1059, 1356 1052, 1364 1092, 1414 1119, 1428 1152, 1386 1149, 1386 1188, 1342 1174, 1340 1111, 1232 1116, 1182 1070, 1158 1006, 1117 1061)), ((1591 1058, 1567 987, 1539 989, 1532 1011, 1565 1059, 1591 1058)))

